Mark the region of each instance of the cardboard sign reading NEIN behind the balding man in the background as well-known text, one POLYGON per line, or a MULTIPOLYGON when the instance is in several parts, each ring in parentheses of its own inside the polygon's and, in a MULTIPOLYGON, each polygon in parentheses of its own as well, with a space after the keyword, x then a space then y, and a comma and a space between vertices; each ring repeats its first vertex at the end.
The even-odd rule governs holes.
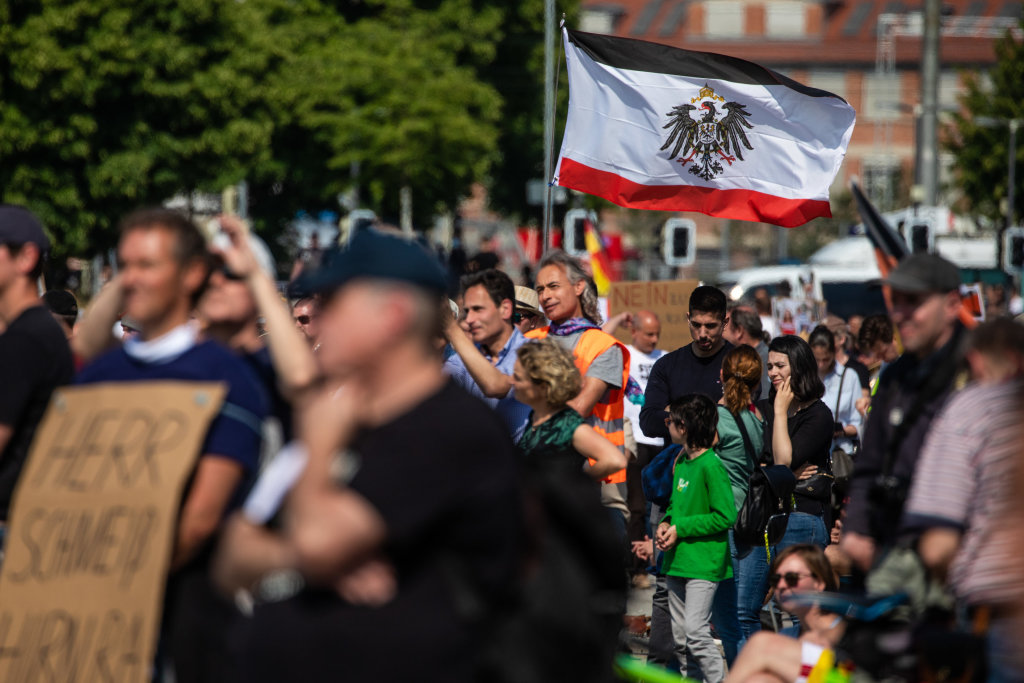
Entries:
MULTIPOLYGON (((657 347, 675 351, 692 341, 686 312, 689 310, 690 294, 699 284, 696 280, 611 283, 608 316, 626 310, 632 313, 638 310, 651 311, 662 321, 662 338, 657 347)), ((624 344, 633 341, 630 331, 622 327, 615 331, 615 338, 624 344)))

